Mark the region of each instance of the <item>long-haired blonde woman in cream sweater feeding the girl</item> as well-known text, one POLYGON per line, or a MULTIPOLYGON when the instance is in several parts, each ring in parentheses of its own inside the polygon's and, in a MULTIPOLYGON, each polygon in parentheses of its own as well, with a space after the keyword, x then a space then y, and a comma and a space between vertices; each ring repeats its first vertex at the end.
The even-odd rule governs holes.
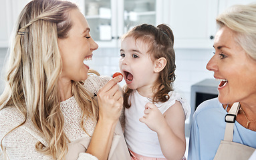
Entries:
POLYGON ((98 45, 76 5, 34 0, 19 15, 0 98, 5 159, 130 159, 118 81, 88 76, 98 45))

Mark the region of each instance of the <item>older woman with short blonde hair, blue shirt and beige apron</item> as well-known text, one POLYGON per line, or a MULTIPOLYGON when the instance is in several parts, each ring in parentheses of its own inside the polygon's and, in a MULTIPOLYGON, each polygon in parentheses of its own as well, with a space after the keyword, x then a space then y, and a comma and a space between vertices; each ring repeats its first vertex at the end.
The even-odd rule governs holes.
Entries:
POLYGON ((203 102, 193 116, 189 160, 248 159, 256 148, 256 4, 231 7, 217 24, 207 69, 221 80, 219 97, 203 102))

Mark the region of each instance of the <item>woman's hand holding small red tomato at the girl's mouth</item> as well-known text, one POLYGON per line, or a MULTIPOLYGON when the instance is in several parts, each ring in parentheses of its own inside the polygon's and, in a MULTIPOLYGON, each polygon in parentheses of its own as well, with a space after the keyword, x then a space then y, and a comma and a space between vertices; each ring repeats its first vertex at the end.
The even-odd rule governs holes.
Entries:
POLYGON ((122 75, 114 77, 98 93, 99 119, 118 122, 122 111, 123 97, 117 83, 122 80, 122 75))

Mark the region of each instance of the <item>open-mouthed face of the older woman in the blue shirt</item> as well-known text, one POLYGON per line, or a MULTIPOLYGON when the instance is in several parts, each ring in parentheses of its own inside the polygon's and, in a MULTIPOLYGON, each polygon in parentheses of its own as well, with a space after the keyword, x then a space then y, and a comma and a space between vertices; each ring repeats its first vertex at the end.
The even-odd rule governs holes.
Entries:
POLYGON ((219 101, 255 103, 256 61, 235 41, 235 33, 228 27, 219 29, 215 36, 215 55, 207 64, 219 84, 219 101))

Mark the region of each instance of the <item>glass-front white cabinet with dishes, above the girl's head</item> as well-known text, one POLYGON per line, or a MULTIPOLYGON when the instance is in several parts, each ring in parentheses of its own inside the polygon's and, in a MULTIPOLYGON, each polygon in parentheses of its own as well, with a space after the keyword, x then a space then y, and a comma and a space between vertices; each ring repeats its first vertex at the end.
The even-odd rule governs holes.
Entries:
POLYGON ((164 0, 86 0, 82 11, 100 47, 119 47, 120 37, 135 25, 163 22, 164 0))

